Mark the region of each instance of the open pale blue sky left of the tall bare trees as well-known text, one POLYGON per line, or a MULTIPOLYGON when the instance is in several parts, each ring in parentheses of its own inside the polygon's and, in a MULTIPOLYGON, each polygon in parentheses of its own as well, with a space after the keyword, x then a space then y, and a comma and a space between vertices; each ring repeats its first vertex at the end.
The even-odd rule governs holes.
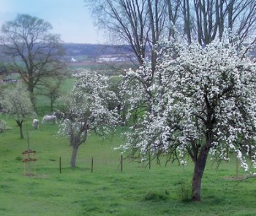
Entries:
POLYGON ((105 43, 83 0, 0 0, 0 26, 18 14, 48 21, 51 33, 60 34, 64 42, 105 43))

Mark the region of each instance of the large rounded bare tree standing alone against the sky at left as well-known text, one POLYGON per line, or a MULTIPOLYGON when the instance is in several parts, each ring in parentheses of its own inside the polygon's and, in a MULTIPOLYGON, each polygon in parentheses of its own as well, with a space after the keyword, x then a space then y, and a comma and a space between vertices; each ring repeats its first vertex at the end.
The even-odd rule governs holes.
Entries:
POLYGON ((49 34, 51 28, 50 23, 30 15, 18 15, 1 27, 4 53, 12 58, 12 70, 26 83, 33 104, 40 80, 59 74, 64 66, 59 35, 49 34))

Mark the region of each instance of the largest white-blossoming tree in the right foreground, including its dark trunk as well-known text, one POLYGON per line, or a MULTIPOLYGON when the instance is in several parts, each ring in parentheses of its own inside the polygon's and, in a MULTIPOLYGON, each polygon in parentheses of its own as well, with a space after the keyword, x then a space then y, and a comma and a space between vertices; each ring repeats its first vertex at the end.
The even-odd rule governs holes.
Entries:
POLYGON ((129 112, 143 115, 120 148, 142 160, 166 155, 186 163, 189 155, 193 201, 200 201, 209 154, 229 160, 233 152, 245 170, 248 156, 256 168, 256 66, 244 50, 225 37, 206 47, 173 40, 159 53, 154 77, 146 67, 124 77, 129 112))

